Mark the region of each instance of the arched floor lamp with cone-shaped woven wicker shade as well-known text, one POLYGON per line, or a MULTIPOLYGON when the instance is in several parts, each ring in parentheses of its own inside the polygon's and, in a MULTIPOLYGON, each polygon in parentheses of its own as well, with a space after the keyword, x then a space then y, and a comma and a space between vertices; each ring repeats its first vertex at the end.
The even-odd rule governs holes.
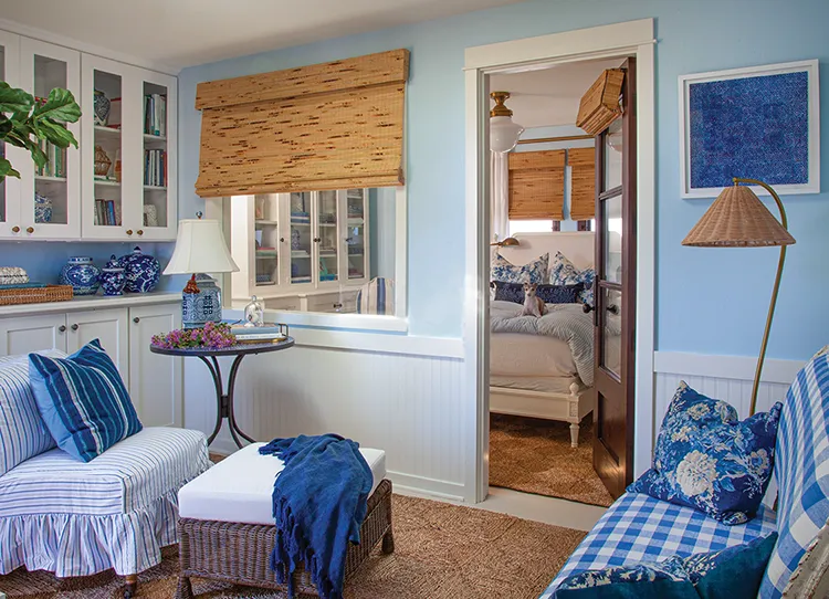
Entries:
POLYGON ((754 374, 754 387, 752 388, 752 403, 749 416, 754 414, 757 407, 757 389, 759 388, 763 361, 766 358, 768 346, 768 333, 772 329, 772 319, 777 304, 777 292, 780 290, 783 265, 786 262, 786 246, 795 243, 788 232, 786 210, 783 208, 780 198, 768 185, 756 179, 734 178, 734 186, 725 188, 714 200, 711 208, 703 214, 700 222, 691 229, 691 232, 682 241, 683 245, 695 245, 699 248, 767 248, 769 245, 780 246, 780 258, 777 262, 777 276, 772 291, 772 303, 768 306, 766 318, 766 330, 763 334, 757 369, 754 374), (772 212, 763 204, 749 188, 739 183, 757 185, 768 191, 780 210, 780 222, 772 216, 772 212))

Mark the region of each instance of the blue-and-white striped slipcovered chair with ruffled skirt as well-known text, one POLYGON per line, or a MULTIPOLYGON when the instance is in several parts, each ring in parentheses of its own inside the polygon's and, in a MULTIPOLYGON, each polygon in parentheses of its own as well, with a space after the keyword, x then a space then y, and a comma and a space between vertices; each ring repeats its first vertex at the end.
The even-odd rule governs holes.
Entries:
POLYGON ((144 428, 90 462, 72 458, 41 418, 28 357, 0 358, 0 574, 114 569, 132 596, 138 572, 178 543, 178 490, 209 466, 204 434, 172 428, 144 428))

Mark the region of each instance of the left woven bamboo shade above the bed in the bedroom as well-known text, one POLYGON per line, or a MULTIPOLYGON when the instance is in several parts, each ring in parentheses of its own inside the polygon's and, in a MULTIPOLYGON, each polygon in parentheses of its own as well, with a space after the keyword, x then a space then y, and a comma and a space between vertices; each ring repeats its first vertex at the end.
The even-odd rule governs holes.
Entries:
POLYGON ((564 150, 510 155, 510 219, 564 219, 564 150))

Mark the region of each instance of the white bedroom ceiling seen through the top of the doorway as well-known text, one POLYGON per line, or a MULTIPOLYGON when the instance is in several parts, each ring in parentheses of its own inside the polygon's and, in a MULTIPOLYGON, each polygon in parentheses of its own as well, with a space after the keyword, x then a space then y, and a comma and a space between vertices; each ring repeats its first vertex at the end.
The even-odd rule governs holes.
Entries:
POLYGON ((490 90, 510 92, 506 106, 513 111, 513 120, 524 128, 575 125, 585 92, 605 69, 622 62, 622 59, 571 62, 542 71, 491 75, 490 90))

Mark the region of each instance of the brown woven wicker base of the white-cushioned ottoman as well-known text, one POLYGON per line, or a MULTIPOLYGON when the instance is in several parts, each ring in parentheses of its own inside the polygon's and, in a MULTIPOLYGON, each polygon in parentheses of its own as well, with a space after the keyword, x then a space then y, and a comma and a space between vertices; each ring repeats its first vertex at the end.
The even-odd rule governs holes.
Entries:
MULTIPOLYGON (((275 526, 180 518, 178 523, 179 575, 176 599, 195 599, 190 577, 223 580, 266 589, 286 590, 276 582, 270 558, 275 526)), ((391 481, 384 479, 368 498, 368 512, 360 527, 360 544, 348 547, 346 580, 382 542, 382 551, 395 550, 391 532, 391 481)), ((317 597, 311 575, 294 572, 301 597, 317 597)))

